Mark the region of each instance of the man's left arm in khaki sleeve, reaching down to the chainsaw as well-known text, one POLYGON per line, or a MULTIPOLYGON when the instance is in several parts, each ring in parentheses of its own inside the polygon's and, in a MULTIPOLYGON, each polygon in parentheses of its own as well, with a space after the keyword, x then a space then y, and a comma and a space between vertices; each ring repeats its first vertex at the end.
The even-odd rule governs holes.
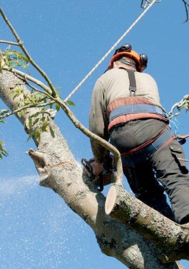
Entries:
MULTIPOLYGON (((108 119, 106 117, 104 94, 103 85, 97 80, 91 99, 89 129, 92 133, 108 141, 108 119)), ((103 163, 108 151, 95 140, 91 139, 90 143, 96 163, 103 163)))

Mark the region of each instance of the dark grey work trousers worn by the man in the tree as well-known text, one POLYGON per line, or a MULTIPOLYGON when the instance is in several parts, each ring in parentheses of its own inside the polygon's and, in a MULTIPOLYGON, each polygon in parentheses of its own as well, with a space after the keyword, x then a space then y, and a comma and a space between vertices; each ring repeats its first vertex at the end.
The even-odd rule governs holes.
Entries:
MULTIPOLYGON (((155 137, 164 126, 164 122, 155 119, 129 121, 113 128, 110 140, 124 153, 155 137)), ((183 149, 179 142, 173 140, 156 151, 148 161, 124 167, 135 196, 178 223, 189 221, 189 177, 182 159, 185 159, 183 149), (173 211, 164 190, 169 195, 173 211)))

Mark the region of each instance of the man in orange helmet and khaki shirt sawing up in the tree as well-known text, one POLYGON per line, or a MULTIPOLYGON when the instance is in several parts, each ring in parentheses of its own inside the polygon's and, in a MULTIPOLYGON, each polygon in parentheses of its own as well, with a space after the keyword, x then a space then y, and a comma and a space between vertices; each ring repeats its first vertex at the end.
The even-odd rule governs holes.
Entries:
MULTIPOLYGON (((93 90, 90 131, 110 139, 121 152, 124 174, 138 199, 184 224, 189 222, 185 157, 169 128, 155 80, 142 73, 146 67, 147 56, 138 55, 131 45, 125 44, 115 51, 108 71, 97 80, 93 90)), ((93 174, 97 176, 109 153, 94 140, 91 148, 95 157, 93 174)))

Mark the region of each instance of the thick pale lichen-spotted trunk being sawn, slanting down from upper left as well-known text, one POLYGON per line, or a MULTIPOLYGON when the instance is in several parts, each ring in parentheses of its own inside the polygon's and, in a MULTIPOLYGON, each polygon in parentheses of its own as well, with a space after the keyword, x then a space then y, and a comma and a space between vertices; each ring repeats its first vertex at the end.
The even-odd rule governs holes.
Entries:
MULTIPOLYGON (((7 94, 20 87, 17 85, 19 83, 23 84, 11 72, 3 71, 0 74, 0 97, 10 110, 13 110, 16 99, 7 94)), ((36 109, 32 109, 31 113, 34 111, 36 109)), ((23 125, 27 117, 28 114, 21 117, 23 125)), ((40 175, 40 184, 58 193, 91 226, 102 252, 132 269, 184 268, 176 262, 162 263, 162 251, 157 251, 148 239, 105 214, 104 195, 83 174, 53 120, 51 127, 55 138, 49 132, 41 133, 37 149, 29 150, 40 175)))

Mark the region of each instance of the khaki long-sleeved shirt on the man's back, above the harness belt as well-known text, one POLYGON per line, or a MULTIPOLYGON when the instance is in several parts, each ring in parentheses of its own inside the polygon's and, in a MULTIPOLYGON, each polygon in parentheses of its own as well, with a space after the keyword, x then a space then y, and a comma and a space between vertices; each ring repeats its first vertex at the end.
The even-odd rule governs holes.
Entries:
MULTIPOLYGON (((163 109, 155 80, 148 74, 135 72, 136 97, 143 97, 163 109)), ((130 97, 129 77, 126 70, 114 68, 103 74, 96 82, 92 93, 89 129, 92 133, 109 140, 106 110, 110 102, 117 98, 130 97)), ((163 109, 164 110, 164 109, 163 109)), ((100 144, 91 140, 95 160, 103 162, 107 154, 100 144)))

